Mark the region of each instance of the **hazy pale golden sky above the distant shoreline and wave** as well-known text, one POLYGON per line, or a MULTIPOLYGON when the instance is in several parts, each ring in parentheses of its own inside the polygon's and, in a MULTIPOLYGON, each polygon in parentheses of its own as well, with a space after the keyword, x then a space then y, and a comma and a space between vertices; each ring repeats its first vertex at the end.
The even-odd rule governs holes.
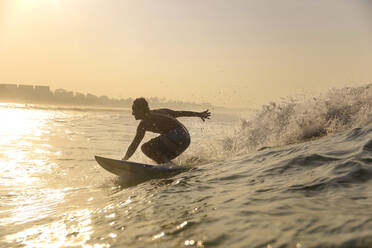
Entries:
POLYGON ((250 107, 368 82, 371 0, 0 0, 0 83, 250 107))

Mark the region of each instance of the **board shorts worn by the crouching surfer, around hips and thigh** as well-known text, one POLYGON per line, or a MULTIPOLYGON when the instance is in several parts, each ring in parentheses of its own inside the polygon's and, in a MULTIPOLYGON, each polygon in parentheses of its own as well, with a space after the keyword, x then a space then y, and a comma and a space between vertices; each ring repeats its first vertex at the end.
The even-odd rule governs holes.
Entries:
POLYGON ((189 147, 190 134, 185 128, 176 128, 149 140, 145 145, 172 160, 189 147))

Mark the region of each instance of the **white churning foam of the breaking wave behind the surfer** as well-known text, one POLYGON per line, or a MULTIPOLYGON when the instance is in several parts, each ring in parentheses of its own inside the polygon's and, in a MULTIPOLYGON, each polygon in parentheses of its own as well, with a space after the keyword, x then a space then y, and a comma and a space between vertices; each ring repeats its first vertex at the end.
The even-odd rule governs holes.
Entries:
MULTIPOLYGON (((198 147, 192 149, 192 157, 220 161, 263 147, 300 143, 368 126, 372 122, 372 84, 330 89, 319 95, 291 96, 240 117, 240 123, 231 115, 226 117, 226 121, 231 121, 229 129, 213 123, 203 126, 203 132, 195 135, 202 138, 197 140, 198 147)), ((220 115, 219 123, 222 119, 220 115)), ((190 129, 193 128, 200 127, 194 124, 190 129)))

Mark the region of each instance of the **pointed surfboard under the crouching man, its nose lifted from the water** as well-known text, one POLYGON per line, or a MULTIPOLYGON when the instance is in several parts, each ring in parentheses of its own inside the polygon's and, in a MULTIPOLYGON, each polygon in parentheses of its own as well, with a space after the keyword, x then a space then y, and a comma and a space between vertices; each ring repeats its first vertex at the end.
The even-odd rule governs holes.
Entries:
POLYGON ((100 156, 94 157, 97 163, 105 170, 119 177, 137 180, 168 177, 187 170, 187 167, 177 165, 151 165, 100 156))

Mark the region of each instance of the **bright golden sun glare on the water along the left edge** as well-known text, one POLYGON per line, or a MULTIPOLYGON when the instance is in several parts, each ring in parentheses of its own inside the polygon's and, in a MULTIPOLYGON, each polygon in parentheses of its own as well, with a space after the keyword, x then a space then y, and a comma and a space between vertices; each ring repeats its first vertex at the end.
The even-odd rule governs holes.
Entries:
POLYGON ((110 247, 87 244, 93 233, 92 210, 58 210, 75 189, 48 182, 58 171, 60 155, 50 140, 58 126, 55 112, 0 104, 0 116, 0 226, 25 226, 3 239, 22 247, 110 247), (52 222, 43 221, 58 215, 52 222))

